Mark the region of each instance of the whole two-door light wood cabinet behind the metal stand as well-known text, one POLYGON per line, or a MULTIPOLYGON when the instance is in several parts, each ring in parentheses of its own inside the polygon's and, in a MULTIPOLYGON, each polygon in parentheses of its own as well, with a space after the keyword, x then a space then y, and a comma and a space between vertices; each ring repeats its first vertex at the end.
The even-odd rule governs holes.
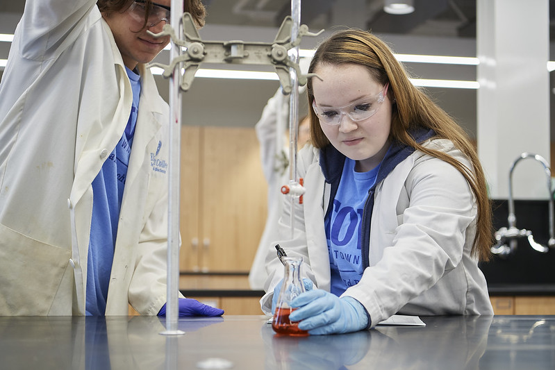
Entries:
POLYGON ((181 271, 248 272, 267 214, 254 128, 184 126, 180 196, 181 271))

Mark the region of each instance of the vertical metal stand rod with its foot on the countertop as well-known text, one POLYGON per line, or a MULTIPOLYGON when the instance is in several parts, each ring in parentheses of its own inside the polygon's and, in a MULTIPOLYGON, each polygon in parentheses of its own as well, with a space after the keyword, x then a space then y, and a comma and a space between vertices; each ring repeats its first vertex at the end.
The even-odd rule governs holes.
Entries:
MULTIPOLYGON (((172 0, 170 24, 177 35, 182 34, 181 16, 183 0, 172 0)), ((181 47, 172 43, 169 60, 181 54, 181 47)), ((177 329, 179 314, 179 166, 181 154, 181 90, 180 76, 182 64, 178 63, 169 78, 169 185, 167 217, 167 298, 166 330, 163 335, 180 335, 177 329)))

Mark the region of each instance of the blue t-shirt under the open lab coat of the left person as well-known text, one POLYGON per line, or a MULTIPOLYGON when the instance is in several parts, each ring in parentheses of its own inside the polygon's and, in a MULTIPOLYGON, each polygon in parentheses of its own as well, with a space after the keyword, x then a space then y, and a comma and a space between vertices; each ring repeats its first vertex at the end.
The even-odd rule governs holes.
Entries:
POLYGON ((131 114, 122 138, 92 181, 93 201, 85 310, 86 314, 94 316, 103 316, 106 313, 119 210, 122 206, 131 144, 137 124, 140 76, 127 67, 126 71, 133 89, 131 114))

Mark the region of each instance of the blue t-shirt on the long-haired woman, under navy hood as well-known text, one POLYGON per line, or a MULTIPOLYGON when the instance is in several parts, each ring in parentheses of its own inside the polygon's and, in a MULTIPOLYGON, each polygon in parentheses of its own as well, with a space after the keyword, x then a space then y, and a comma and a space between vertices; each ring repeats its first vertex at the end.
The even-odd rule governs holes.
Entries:
POLYGON ((361 221, 368 190, 374 185, 380 167, 356 172, 354 165, 354 160, 345 158, 333 209, 324 220, 331 268, 331 293, 336 296, 358 283, 363 275, 361 221))

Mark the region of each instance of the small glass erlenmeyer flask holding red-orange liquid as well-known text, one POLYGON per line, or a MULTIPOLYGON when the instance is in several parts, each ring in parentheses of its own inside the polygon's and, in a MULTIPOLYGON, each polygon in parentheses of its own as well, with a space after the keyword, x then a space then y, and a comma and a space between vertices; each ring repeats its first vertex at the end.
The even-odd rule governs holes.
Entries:
POLYGON ((306 330, 299 329, 298 322, 292 322, 289 314, 295 309, 290 307, 291 301, 304 292, 304 285, 301 281, 301 257, 282 258, 285 274, 283 274, 283 284, 279 291, 279 297, 274 312, 272 328, 278 334, 283 335, 308 335, 306 330))

